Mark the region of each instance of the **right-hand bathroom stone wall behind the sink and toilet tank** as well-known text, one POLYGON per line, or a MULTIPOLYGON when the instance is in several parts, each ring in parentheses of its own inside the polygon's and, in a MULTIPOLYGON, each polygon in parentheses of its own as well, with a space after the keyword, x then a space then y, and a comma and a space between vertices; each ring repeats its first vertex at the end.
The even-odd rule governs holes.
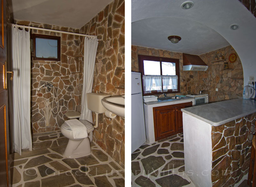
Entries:
MULTIPOLYGON (((97 35, 99 39, 92 89, 109 95, 124 94, 124 0, 108 4, 80 33, 97 35)), ((80 52, 84 53, 80 37, 80 52)), ((95 114, 93 113, 93 121, 95 114)), ((99 127, 93 140, 117 163, 124 167, 124 119, 109 120, 99 114, 99 127)))

